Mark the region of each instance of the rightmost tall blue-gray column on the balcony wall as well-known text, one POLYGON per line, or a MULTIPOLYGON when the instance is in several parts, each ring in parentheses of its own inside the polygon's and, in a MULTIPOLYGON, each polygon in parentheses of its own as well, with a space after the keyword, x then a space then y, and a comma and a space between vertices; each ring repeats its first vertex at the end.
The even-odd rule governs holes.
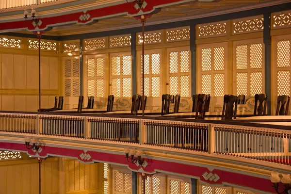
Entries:
POLYGON ((271 14, 264 14, 265 94, 268 97, 267 114, 271 115, 271 14))

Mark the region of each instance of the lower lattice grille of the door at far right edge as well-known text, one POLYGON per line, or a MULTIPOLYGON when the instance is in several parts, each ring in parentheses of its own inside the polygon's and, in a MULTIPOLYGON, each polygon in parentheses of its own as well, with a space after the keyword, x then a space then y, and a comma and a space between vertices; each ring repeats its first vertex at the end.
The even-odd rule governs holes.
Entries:
POLYGON ((277 95, 290 96, 290 71, 277 72, 277 95))

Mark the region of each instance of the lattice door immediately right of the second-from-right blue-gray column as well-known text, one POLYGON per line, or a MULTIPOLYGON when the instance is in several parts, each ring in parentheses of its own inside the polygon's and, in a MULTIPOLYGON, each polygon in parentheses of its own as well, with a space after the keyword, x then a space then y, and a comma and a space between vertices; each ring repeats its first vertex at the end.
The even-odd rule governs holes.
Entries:
POLYGON ((227 88, 227 43, 198 46, 197 89, 210 94, 210 110, 221 111, 227 88))

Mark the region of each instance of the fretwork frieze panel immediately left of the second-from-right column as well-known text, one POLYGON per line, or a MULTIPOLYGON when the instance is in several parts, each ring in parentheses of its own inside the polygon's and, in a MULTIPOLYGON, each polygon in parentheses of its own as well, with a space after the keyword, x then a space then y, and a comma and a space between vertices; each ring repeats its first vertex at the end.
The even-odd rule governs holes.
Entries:
POLYGON ((169 29, 166 31, 167 42, 190 40, 190 28, 169 29))

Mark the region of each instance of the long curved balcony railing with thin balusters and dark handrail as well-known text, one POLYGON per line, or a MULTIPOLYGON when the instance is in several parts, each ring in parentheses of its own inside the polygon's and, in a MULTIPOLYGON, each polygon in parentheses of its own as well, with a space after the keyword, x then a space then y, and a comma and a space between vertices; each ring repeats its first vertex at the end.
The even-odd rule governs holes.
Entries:
POLYGON ((157 116, 0 113, 0 134, 12 133, 55 140, 77 138, 79 141, 162 146, 173 151, 195 150, 212 156, 228 155, 291 165, 288 126, 177 118, 173 121, 157 116))

